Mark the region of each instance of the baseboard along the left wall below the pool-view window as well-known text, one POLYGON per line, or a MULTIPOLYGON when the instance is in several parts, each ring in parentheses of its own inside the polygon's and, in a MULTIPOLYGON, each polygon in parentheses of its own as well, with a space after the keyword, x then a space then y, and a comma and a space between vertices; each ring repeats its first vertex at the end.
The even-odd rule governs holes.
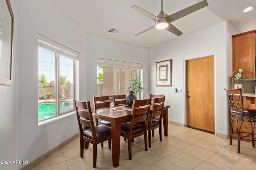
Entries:
POLYGON ((67 145, 68 143, 70 143, 71 141, 76 139, 77 137, 79 137, 79 133, 76 133, 76 135, 74 135, 74 136, 70 137, 69 139, 67 139, 66 141, 62 142, 57 147, 49 150, 48 152, 46 152, 45 154, 43 154, 39 158, 36 158, 35 160, 33 160, 32 162, 30 162, 29 164, 27 164, 26 166, 24 166, 20 170, 30 170, 31 168, 33 168, 34 166, 36 166, 37 164, 39 164, 40 162, 42 162, 43 160, 48 158, 50 155, 52 155, 56 151, 60 150, 62 147, 64 147, 65 145, 67 145))

